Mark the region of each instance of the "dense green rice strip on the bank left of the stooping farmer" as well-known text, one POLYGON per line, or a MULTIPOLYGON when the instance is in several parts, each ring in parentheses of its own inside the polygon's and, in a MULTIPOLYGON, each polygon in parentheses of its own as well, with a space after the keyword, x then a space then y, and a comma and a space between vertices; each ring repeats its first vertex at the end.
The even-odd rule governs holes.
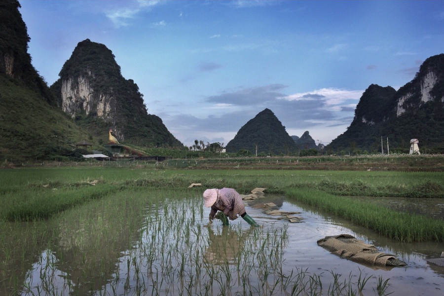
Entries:
POLYGON ((46 194, 36 194, 8 208, 3 213, 3 219, 11 222, 48 219, 89 200, 103 198, 116 189, 116 186, 91 186, 60 193, 54 190, 46 194))

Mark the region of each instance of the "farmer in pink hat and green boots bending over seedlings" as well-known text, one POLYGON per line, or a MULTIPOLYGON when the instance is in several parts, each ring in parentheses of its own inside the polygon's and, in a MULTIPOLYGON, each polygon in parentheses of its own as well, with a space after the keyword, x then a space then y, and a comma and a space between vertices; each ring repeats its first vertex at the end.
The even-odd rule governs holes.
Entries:
POLYGON ((222 225, 228 225, 228 218, 236 220, 240 215, 245 221, 252 226, 259 226, 253 218, 245 212, 244 202, 236 190, 231 188, 207 189, 203 193, 205 206, 211 207, 210 222, 214 218, 219 218, 222 225), (216 213, 219 212, 218 215, 216 213))

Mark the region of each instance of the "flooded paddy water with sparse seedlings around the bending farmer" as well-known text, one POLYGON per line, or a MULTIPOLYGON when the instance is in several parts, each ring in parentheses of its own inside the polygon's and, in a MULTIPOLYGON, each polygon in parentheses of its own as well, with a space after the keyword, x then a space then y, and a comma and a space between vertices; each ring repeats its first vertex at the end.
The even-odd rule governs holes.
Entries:
POLYGON ((47 222, 2 225, 1 295, 442 295, 444 244, 399 243, 284 196, 247 202, 260 225, 208 224, 196 191, 124 191, 47 222), (149 200, 149 202, 147 201, 149 200), (301 212, 290 223, 256 208, 301 212), (407 266, 341 259, 317 240, 347 233, 407 266), (388 280, 388 282, 386 282, 388 280), (386 283, 386 285, 384 285, 386 283))

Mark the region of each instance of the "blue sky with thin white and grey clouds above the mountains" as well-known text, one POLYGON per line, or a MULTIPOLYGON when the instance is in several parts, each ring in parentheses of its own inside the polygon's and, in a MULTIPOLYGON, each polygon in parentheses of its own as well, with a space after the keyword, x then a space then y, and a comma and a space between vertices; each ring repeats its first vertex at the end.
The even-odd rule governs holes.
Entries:
MULTIPOLYGON (((78 42, 105 44, 184 145, 226 145, 265 108, 328 144, 370 84, 395 89, 444 52, 443 1, 21 0, 48 85, 78 42)), ((104 131, 105 133, 107 131, 104 131)))

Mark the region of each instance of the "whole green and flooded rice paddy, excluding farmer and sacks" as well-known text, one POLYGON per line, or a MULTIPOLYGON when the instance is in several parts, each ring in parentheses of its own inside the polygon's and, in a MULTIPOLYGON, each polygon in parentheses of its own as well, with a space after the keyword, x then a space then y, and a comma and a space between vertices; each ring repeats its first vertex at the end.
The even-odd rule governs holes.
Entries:
POLYGON ((428 261, 444 252, 443 180, 443 172, 3 169, 0 295, 443 295, 444 267, 428 261), (260 227, 209 223, 202 192, 222 187, 267 188, 245 201, 260 227), (265 203, 300 221, 267 214, 265 203), (362 265, 317 245, 342 233, 407 265, 362 265))

